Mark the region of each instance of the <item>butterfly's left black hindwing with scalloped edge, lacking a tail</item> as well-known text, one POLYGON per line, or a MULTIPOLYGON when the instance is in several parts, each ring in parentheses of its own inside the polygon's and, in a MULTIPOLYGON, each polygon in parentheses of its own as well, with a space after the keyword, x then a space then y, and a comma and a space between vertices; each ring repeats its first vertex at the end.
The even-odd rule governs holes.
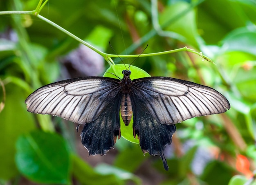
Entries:
POLYGON ((120 139, 121 93, 105 108, 99 117, 86 123, 80 136, 90 155, 104 155, 114 147, 117 137, 120 139))

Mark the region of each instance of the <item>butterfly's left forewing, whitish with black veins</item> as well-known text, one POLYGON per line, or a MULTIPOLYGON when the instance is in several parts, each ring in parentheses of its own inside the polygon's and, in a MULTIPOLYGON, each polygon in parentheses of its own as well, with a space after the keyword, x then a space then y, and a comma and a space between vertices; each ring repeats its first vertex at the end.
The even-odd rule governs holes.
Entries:
POLYGON ((25 101, 27 110, 56 115, 75 123, 89 123, 120 92, 119 79, 82 77, 43 86, 25 101))

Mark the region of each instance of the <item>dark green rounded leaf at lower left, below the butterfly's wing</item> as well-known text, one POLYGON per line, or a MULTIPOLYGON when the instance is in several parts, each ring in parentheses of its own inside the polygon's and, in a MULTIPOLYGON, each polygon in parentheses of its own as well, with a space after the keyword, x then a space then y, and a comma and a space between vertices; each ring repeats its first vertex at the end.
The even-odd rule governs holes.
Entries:
POLYGON ((16 165, 20 173, 38 183, 70 183, 70 155, 62 137, 33 131, 16 143, 16 165))

